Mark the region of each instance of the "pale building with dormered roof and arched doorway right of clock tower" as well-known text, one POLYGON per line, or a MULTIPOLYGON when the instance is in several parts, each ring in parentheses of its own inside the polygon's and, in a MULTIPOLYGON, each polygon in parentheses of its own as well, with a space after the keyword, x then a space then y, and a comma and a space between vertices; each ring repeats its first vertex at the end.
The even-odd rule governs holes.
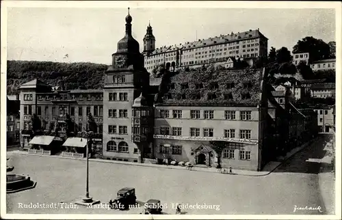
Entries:
POLYGON ((242 70, 208 79, 204 73, 179 72, 162 82, 155 99, 155 157, 260 170, 267 129, 261 79, 261 70, 242 70))

